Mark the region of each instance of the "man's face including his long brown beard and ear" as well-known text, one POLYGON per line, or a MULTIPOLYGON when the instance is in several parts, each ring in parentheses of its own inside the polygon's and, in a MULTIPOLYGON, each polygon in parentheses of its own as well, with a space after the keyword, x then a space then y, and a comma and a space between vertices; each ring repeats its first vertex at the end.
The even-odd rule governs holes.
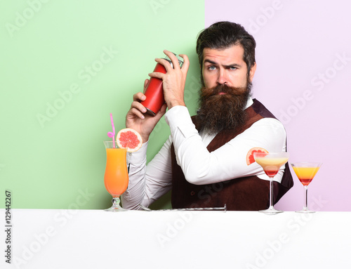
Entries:
POLYGON ((246 122, 246 104, 256 64, 249 75, 243 60, 244 48, 204 48, 197 123, 208 133, 237 129, 246 122))

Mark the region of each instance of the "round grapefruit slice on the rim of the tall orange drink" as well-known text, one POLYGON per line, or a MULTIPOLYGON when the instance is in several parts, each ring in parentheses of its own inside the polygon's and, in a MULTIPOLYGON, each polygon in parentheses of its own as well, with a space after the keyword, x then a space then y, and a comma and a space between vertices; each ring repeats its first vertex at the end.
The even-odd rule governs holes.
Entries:
POLYGON ((143 144, 140 133, 131 128, 121 129, 117 133, 116 141, 120 148, 126 148, 128 152, 139 150, 143 144))

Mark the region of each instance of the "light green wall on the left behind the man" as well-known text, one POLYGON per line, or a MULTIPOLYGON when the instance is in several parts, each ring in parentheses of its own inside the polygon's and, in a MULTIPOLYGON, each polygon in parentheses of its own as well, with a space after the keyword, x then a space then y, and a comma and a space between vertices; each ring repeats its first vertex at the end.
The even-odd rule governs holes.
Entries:
MULTIPOLYGON (((185 101, 197 105, 194 50, 204 0, 3 1, 0 4, 0 190, 12 208, 104 209, 107 132, 124 128, 166 48, 190 57, 185 101)), ((169 135, 164 119, 148 160, 169 135)), ((168 197, 156 207, 168 207, 168 197)))

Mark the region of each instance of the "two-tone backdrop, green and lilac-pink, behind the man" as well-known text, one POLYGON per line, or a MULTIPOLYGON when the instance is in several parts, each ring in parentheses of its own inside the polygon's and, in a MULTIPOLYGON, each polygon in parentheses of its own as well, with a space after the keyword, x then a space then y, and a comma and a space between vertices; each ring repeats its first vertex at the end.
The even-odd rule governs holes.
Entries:
MULTIPOLYGON (((350 211, 349 10, 341 0, 1 2, 0 197, 11 190, 13 208, 109 206, 102 140, 110 113, 124 128, 133 93, 168 49, 190 57, 185 101, 194 114, 197 34, 230 20, 256 38, 253 97, 286 127, 290 162, 323 162, 310 206, 350 211)), ((162 119, 148 160, 168 135, 162 119)), ((279 209, 303 206, 293 176, 279 209)), ((154 206, 169 207, 169 195, 154 206)))

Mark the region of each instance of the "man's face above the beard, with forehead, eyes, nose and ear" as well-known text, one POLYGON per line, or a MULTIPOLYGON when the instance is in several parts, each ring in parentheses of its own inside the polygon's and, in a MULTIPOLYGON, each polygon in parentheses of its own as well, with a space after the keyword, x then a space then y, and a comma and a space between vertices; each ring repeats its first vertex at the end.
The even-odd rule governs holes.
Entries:
POLYGON ((222 84, 246 88, 247 81, 252 81, 255 71, 256 63, 251 67, 247 77, 244 48, 241 45, 224 49, 204 48, 202 76, 207 88, 215 88, 222 84))

